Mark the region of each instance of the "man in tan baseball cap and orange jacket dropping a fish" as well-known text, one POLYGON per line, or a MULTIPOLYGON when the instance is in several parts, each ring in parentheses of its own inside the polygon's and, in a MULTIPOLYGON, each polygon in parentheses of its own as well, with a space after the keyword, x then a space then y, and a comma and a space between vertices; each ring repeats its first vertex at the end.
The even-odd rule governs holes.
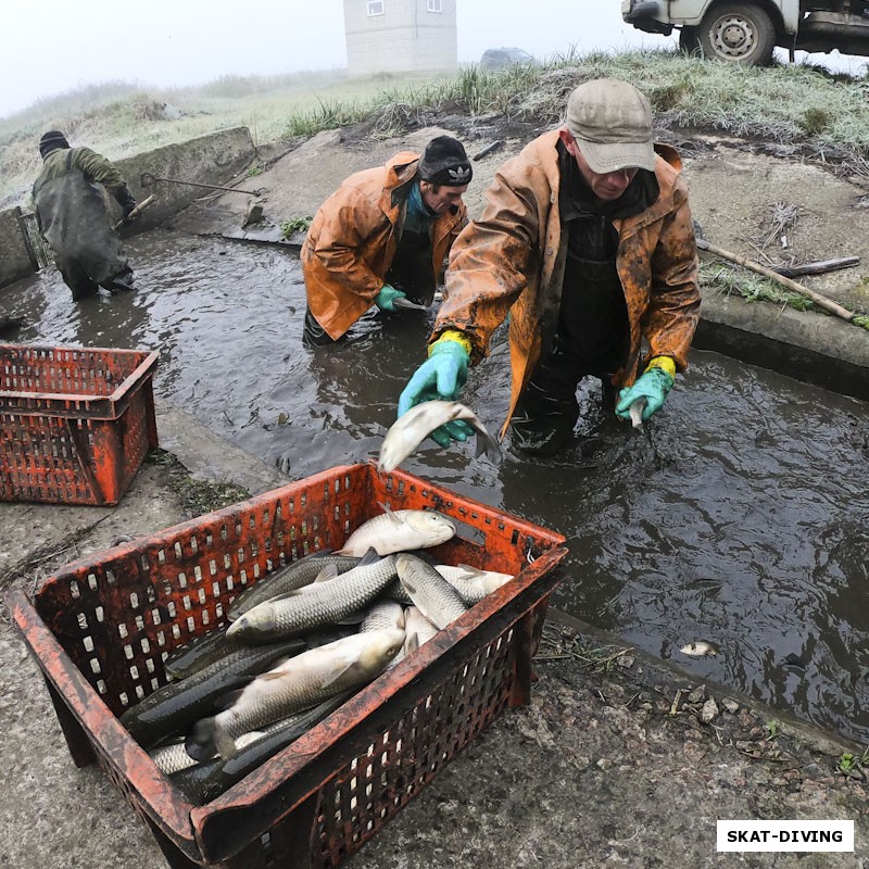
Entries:
MULTIPOLYGON (((509 315, 508 427, 520 451, 549 455, 574 438, 577 386, 600 378, 628 419, 664 405, 700 313, 697 252, 676 151, 655 144, 648 100, 610 78, 587 81, 566 122, 496 173, 481 217, 453 245, 428 360, 399 416, 454 400, 509 315), (618 392, 618 394, 616 394, 618 392)), ((442 446, 470 429, 449 423, 442 446)))

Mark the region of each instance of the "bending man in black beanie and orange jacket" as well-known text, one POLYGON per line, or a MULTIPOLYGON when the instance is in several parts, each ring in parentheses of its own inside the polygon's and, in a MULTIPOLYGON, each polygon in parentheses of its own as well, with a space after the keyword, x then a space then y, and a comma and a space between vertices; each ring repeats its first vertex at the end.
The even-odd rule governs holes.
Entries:
POLYGON ((302 245, 303 340, 328 345, 371 307, 428 306, 453 241, 467 223, 474 174, 462 142, 438 136, 351 175, 319 207, 302 245))

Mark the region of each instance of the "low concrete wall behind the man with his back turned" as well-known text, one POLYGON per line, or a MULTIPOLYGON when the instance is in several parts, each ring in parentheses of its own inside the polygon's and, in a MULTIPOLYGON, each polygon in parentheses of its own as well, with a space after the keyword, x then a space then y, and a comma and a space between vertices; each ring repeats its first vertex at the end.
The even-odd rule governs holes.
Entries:
MULTIPOLYGON (((160 226, 194 199, 209 192, 201 187, 165 181, 143 187, 142 173, 150 172, 159 178, 231 186, 232 181, 244 177, 244 169, 255 159, 250 130, 247 127, 232 127, 115 161, 138 202, 151 193, 155 199, 137 223, 123 230, 123 235, 135 235, 160 226)), ((106 200, 112 221, 119 221, 117 203, 111 196, 106 200)), ((0 212, 0 287, 33 274, 24 236, 17 225, 20 211, 16 206, 0 212)))

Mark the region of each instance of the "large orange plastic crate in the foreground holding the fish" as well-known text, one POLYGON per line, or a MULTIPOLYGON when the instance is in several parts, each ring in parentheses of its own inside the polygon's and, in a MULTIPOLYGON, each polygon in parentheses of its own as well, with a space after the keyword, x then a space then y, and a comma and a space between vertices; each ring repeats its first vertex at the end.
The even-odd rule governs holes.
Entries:
POLYGON ((46 677, 70 752, 96 759, 174 869, 337 867, 509 706, 561 581, 564 538, 401 471, 337 467, 74 562, 12 614, 46 677), (162 684, 178 645, 225 621, 280 565, 339 549, 380 513, 432 508, 458 536, 432 552, 516 579, 204 806, 193 806, 117 721, 162 684))

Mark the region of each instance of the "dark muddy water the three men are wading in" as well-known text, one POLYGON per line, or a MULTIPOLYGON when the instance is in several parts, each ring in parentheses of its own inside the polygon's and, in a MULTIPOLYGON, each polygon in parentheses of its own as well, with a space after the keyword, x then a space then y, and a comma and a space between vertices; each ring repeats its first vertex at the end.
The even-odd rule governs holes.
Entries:
MULTIPOLYGON (((371 318, 301 345, 304 288, 287 250, 167 232, 129 245, 140 289, 74 304, 53 270, 4 290, 22 341, 161 352, 156 391, 293 478, 375 457, 423 358, 430 316, 371 318)), ((495 466, 427 445, 405 469, 562 531, 555 605, 696 678, 869 742, 869 406, 696 352, 644 432, 604 418, 576 445, 495 466), (720 647, 689 657, 693 640, 720 647)), ((464 393, 492 429, 506 345, 464 393)), ((429 442, 430 444, 430 442, 429 442)))

